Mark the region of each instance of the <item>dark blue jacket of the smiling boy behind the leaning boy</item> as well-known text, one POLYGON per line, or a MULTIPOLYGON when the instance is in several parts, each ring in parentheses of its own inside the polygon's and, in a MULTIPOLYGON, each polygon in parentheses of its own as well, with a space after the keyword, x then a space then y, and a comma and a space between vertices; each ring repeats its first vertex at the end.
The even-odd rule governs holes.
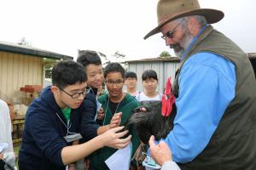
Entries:
POLYGON ((97 130, 100 125, 96 123, 96 88, 91 88, 90 92, 86 94, 84 99, 84 114, 81 119, 81 134, 83 136, 82 142, 87 142, 97 136, 97 130))

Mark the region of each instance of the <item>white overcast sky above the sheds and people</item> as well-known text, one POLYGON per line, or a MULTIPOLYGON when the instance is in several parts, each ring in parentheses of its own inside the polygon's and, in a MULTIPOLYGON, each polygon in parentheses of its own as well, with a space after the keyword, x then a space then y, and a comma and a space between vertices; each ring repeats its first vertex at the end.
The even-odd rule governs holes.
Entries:
MULTIPOLYGON (((201 8, 224 11, 213 26, 245 52, 256 52, 255 0, 199 0, 201 8)), ((143 40, 157 26, 157 0, 1 0, 0 41, 22 37, 33 47, 76 58, 92 49, 126 59, 157 57, 165 46, 160 34, 143 40)))

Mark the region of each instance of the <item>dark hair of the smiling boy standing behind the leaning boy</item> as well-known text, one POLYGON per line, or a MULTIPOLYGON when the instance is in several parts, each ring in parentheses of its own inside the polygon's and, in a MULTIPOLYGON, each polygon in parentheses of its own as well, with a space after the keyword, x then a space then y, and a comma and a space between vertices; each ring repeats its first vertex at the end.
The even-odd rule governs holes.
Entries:
POLYGON ((96 53, 96 51, 91 50, 81 50, 79 51, 79 57, 77 59, 77 62, 79 62, 81 65, 84 65, 84 68, 86 68, 87 65, 102 65, 102 59, 100 56, 96 53))

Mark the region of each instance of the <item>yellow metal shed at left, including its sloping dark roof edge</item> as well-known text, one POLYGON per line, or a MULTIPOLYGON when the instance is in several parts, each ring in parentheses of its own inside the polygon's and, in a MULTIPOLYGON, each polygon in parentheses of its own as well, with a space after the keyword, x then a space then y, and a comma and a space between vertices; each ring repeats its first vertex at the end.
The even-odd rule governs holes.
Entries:
POLYGON ((0 42, 0 98, 12 101, 26 84, 44 83, 44 58, 73 59, 39 48, 0 42))

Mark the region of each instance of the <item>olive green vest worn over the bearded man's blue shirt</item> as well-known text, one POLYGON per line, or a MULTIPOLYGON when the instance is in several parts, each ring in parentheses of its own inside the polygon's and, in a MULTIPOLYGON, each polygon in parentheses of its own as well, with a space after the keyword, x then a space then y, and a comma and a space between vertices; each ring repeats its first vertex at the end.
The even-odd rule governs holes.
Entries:
MULTIPOLYGON (((236 95, 224 112, 218 128, 205 150, 193 161, 179 164, 193 170, 255 170, 256 169, 256 81, 246 54, 222 33, 207 26, 184 57, 199 52, 218 54, 236 66, 236 95)), ((178 96, 178 76, 173 84, 178 96)), ((200 90, 200 89, 198 89, 200 90)))

